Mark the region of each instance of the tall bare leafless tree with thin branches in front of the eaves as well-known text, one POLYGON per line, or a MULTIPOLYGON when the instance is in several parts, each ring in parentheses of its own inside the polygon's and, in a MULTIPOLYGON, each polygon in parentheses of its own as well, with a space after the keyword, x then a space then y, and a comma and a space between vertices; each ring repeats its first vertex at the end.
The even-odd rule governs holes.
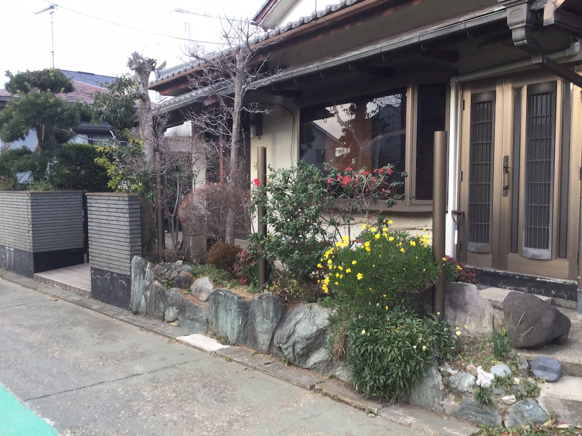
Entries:
MULTIPOLYGON (((257 83, 267 83, 278 72, 265 72, 267 56, 260 38, 261 30, 248 20, 227 20, 222 25, 222 47, 208 53, 198 45, 190 56, 198 62, 190 86, 205 96, 203 109, 191 110, 189 117, 201 134, 217 139, 220 155, 228 153, 226 183, 235 191, 242 174, 245 113, 268 113, 259 102, 247 102, 257 83)), ((235 202, 236 203, 236 202, 235 202)), ((226 211, 226 242, 235 241, 235 208, 226 211)))

